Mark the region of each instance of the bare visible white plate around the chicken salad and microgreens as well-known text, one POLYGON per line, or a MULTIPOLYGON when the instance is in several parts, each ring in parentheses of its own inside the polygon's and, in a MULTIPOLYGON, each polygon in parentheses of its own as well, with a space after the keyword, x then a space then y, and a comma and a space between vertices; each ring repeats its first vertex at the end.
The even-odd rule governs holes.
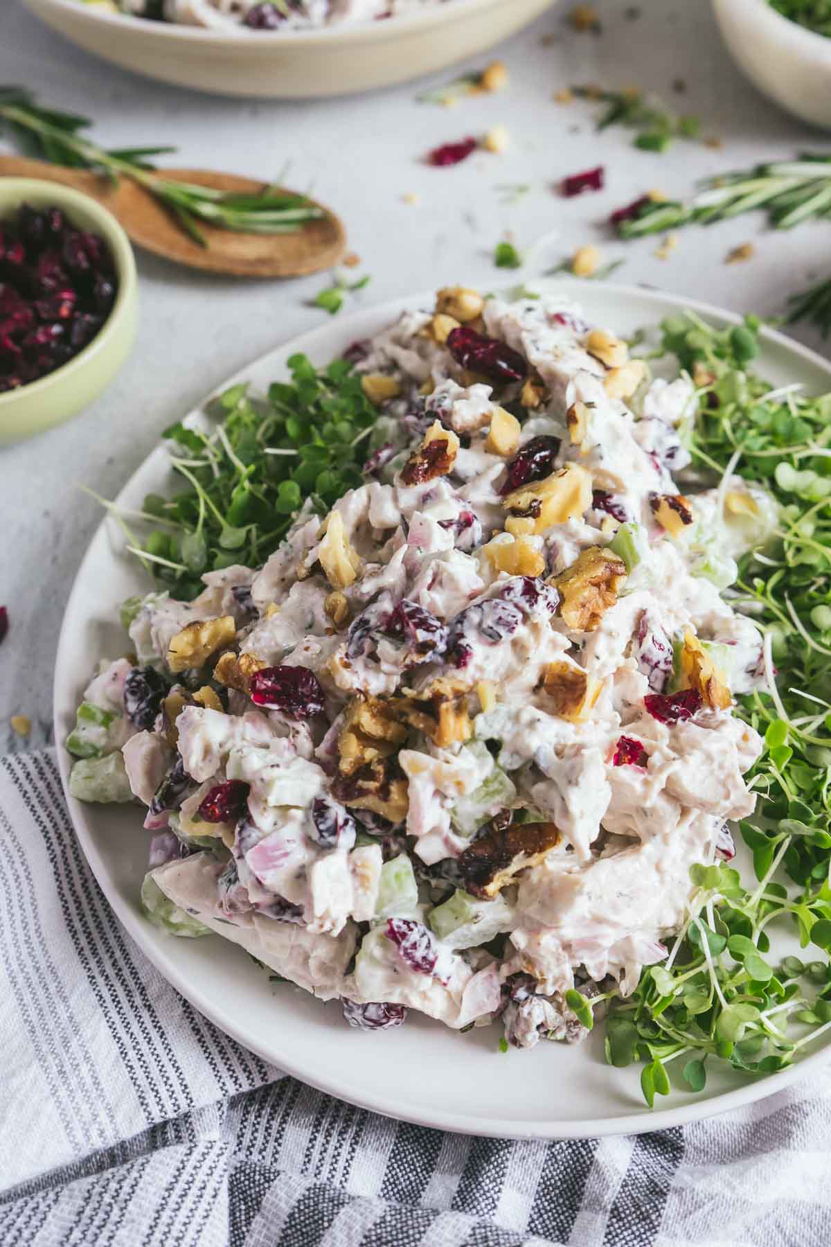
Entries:
MULTIPOLYGON (((552 284, 552 283, 549 283, 552 284)), ((736 317, 704 303, 659 292, 601 282, 568 282, 589 318, 632 333, 685 307, 715 323, 736 317)), ((269 352, 227 384, 249 380, 254 390, 287 378, 285 360, 305 352, 325 364, 355 339, 376 333, 406 307, 429 307, 425 294, 387 303, 344 319, 326 322, 269 352)), ((831 367, 784 334, 762 330, 759 360, 775 384, 802 382, 809 393, 831 389, 831 367)), ((223 385, 222 389, 226 387, 223 385)), ((171 413, 171 418, 174 413, 171 413)), ((172 484, 159 446, 118 496, 140 508, 145 494, 166 493, 172 484)), ((118 604, 151 586, 136 561, 122 550, 112 520, 98 527, 77 574, 61 630, 55 671, 55 738, 61 742, 75 722, 75 710, 95 662, 127 648, 118 604)), ((70 758, 59 746, 66 787, 70 758)), ((678 1126, 749 1104, 777 1091, 826 1060, 831 1034, 800 1064, 766 1079, 708 1069, 708 1085, 696 1095, 673 1091, 649 1112, 639 1089, 639 1066, 615 1070, 603 1061, 603 1028, 569 1047, 538 1044, 531 1052, 497 1050, 500 1029, 460 1035, 410 1013, 406 1024, 366 1034, 346 1026, 338 1001, 326 1005, 300 989, 274 986, 242 949, 221 939, 177 939, 152 927, 138 907, 147 863, 148 833, 141 811, 123 806, 85 806, 67 797, 78 839, 116 914, 161 973, 217 1026, 247 1047, 343 1100, 375 1112, 425 1126, 465 1134, 582 1139, 678 1126)), ((745 863, 741 863, 743 867, 745 863)), ((787 949, 791 951, 791 949, 787 949)))

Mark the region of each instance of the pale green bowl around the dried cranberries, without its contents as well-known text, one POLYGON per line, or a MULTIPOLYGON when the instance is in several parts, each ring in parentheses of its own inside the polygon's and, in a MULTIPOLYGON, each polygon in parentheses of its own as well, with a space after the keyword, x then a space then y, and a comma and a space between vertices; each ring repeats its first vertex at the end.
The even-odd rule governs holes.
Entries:
POLYGON ((112 252, 118 289, 110 315, 83 350, 54 373, 0 394, 0 445, 51 429, 88 407, 125 363, 136 337, 136 261, 127 234, 112 213, 66 186, 29 177, 0 178, 0 223, 21 203, 36 208, 55 205, 74 224, 101 234, 112 252))

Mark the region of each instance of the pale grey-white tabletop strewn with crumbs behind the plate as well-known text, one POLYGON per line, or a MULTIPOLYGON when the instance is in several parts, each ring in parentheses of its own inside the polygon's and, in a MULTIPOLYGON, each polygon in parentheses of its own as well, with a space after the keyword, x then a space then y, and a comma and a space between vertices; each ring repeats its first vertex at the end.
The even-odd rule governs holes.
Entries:
MULTIPOLYGON (((510 0, 506 0, 510 2, 510 0)), ((455 108, 416 104, 435 82, 313 104, 247 104, 212 99, 131 77, 76 51, 41 27, 16 0, 0 2, 0 82, 25 82, 42 102, 95 118, 105 146, 176 143, 182 165, 274 176, 313 190, 346 223, 351 248, 371 274, 356 297, 368 306, 463 281, 502 284, 492 266, 506 229, 525 247, 556 231, 518 274, 529 278, 586 242, 608 259, 623 256, 615 279, 706 299, 735 311, 775 315, 787 293, 826 269, 827 223, 772 233, 761 216, 679 233, 667 261, 659 238, 615 242, 604 222, 612 208, 658 187, 688 196, 708 173, 781 158, 799 148, 827 150, 827 137, 780 113, 741 80, 719 42, 705 0, 598 0, 601 36, 578 35, 564 21, 572 0, 498 50, 511 72, 508 91, 462 100, 455 108), (543 35, 556 42, 543 46, 543 35), (683 79, 678 95, 673 82, 683 79), (639 152, 620 128, 596 135, 597 107, 553 101, 568 84, 638 85, 678 111, 699 113, 720 150, 678 141, 664 155, 639 152), (440 142, 505 123, 512 146, 476 155, 456 168, 430 168, 424 152, 440 142), (603 163, 607 187, 563 200, 567 173, 603 163), (518 203, 497 187, 531 183, 518 203), (419 196, 417 206, 402 197, 419 196), (756 251, 725 266, 738 243, 756 251)), ((496 54, 495 54, 496 55, 496 54)), ((460 69, 481 69, 477 65, 460 69)), ((1 143, 1 140, 0 140, 1 143)), ((20 747, 9 717, 32 720, 30 744, 51 736, 51 682, 57 633, 81 555, 100 520, 87 485, 112 498, 154 445, 166 424, 187 412, 248 359, 325 318, 308 306, 329 284, 325 274, 297 282, 212 279, 137 254, 140 333, 113 387, 82 416, 16 448, 0 449, 0 605, 11 627, 0 650, 0 752, 20 747)), ((827 266, 831 267, 831 266, 827 266)), ((343 314, 343 313, 341 313, 343 314)), ((797 335, 819 344, 810 330, 797 335)), ((90 656, 92 662, 93 656, 90 656)))

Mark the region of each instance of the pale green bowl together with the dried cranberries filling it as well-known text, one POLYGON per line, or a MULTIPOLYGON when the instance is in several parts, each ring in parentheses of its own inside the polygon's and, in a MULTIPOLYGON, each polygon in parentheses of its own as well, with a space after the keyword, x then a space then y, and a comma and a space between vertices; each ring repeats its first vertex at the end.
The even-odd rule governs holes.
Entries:
POLYGON ((0 444, 61 424, 110 384, 136 332, 136 263, 86 195, 0 180, 0 444))

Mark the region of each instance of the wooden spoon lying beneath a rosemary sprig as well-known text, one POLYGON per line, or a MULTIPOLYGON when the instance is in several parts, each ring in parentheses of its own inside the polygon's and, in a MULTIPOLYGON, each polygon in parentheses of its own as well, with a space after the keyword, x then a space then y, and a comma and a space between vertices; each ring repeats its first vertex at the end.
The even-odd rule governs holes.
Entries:
MULTIPOLYGON (((324 207, 325 216, 300 226, 297 233, 253 234, 235 233, 199 221, 199 231, 208 246, 201 247, 177 224, 176 218, 138 182, 122 177, 117 186, 87 170, 62 168, 41 160, 0 156, 0 177, 39 177, 59 182, 90 195, 118 218, 138 247, 163 256, 176 264, 188 264, 211 273, 232 273, 235 277, 303 277, 321 268, 331 268, 344 253, 346 234, 334 212, 324 207)), ((159 170, 158 177, 173 177, 218 191, 245 195, 263 191, 264 182, 233 173, 213 173, 194 168, 159 170)), ((289 192, 292 193, 292 192, 289 192)), ((309 201, 315 203, 314 200, 309 201)), ((323 205, 315 205, 323 207, 323 205)))

